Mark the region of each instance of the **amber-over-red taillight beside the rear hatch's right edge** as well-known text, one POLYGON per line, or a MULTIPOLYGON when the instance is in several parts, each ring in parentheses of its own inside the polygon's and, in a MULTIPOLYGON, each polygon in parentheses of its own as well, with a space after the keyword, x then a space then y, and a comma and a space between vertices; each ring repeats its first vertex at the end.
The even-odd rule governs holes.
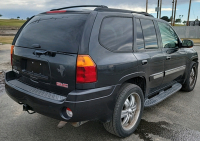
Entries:
POLYGON ((76 83, 97 81, 96 64, 89 55, 78 55, 76 64, 76 83))

